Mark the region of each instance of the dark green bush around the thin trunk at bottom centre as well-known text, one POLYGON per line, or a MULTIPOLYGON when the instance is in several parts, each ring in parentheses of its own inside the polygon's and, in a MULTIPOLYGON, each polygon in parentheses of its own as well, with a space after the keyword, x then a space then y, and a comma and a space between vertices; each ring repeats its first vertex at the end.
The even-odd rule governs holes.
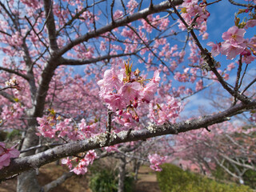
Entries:
MULTIPOLYGON (((93 170, 93 175, 90 177, 90 189, 93 192, 117 192, 118 191, 118 172, 110 169, 93 170)), ((133 191, 134 178, 126 176, 125 191, 133 191)))

